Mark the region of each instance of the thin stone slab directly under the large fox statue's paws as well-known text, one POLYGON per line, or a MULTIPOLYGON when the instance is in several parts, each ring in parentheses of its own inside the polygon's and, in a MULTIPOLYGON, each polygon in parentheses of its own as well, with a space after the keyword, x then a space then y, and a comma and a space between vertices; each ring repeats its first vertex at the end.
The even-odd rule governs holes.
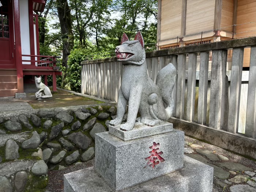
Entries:
POLYGON ((120 130, 120 125, 118 126, 109 125, 109 133, 111 133, 112 135, 124 141, 157 135, 160 133, 166 133, 172 130, 173 130, 173 124, 168 122, 163 123, 161 125, 156 125, 154 127, 149 127, 142 123, 136 122, 134 125, 134 128, 131 131, 120 130))

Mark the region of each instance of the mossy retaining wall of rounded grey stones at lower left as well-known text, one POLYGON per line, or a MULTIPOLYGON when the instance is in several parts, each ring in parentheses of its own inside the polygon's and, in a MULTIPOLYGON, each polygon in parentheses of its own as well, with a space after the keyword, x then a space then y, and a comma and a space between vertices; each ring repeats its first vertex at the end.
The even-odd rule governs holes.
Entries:
POLYGON ((11 117, 0 114, 1 188, 45 192, 49 169, 61 170, 94 157, 95 133, 108 131, 115 114, 116 108, 105 104, 11 117))

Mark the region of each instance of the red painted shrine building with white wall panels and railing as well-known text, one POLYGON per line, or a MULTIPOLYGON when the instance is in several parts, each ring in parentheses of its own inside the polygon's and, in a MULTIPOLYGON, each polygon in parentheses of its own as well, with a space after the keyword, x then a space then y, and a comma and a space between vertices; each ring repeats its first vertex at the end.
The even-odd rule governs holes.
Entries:
POLYGON ((39 52, 38 15, 45 0, 0 0, 0 97, 24 93, 24 83, 34 76, 62 75, 56 67, 56 56, 41 56, 39 52))

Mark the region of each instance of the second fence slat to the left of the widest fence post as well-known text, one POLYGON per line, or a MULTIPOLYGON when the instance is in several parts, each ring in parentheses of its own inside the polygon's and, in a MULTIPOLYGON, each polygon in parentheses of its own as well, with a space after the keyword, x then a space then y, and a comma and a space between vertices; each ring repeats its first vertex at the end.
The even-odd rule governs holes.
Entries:
POLYGON ((186 116, 185 116, 185 119, 187 121, 192 121, 194 118, 195 89, 196 89, 196 59, 197 59, 197 53, 189 53, 187 105, 186 105, 186 116))

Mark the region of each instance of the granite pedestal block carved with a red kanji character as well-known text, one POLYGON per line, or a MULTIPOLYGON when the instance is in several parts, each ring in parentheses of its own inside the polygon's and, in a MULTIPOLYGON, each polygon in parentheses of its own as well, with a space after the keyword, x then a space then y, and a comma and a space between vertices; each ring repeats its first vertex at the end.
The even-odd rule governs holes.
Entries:
POLYGON ((184 132, 123 141, 109 132, 95 136, 95 170, 119 191, 183 167, 184 132))

